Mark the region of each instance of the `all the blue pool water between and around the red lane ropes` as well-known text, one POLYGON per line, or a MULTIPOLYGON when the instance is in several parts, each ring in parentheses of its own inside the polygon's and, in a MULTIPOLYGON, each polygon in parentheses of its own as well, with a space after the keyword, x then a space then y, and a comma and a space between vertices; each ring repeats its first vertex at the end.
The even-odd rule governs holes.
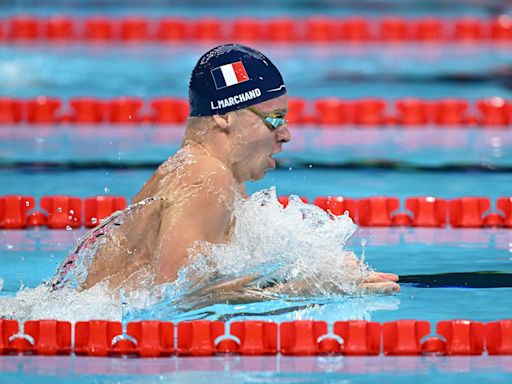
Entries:
MULTIPOLYGON (((488 10, 468 3, 454 8, 448 2, 382 2, 389 9, 356 8, 369 17, 399 12, 404 16, 486 17, 488 10)), ((268 5, 268 4, 267 4, 268 5)), ((270 14, 307 16, 307 4, 271 4, 270 14)), ((498 2, 499 5, 499 2, 498 2)), ((6 15, 19 8, 3 5, 6 15)), ((162 12, 186 17, 229 17, 249 12, 247 4, 228 2, 197 11, 188 4, 169 8, 161 2, 141 10, 117 3, 95 6, 78 1, 71 8, 34 5, 34 14, 70 10, 76 16, 162 12), (242 8, 243 7, 243 8, 242 8), (118 13, 120 12, 120 13, 118 13)), ((252 14, 268 16, 262 7, 252 14)), ((359 6, 358 6, 359 7, 359 6)), ((265 8, 266 9, 266 8, 265 8)), ((315 12, 347 16, 355 5, 321 3, 315 12)), ((506 11, 506 8, 503 9, 506 11)), ((91 46, 89 44, 1 44, 0 84, 4 96, 29 98, 40 94, 69 99, 91 95, 121 95, 145 99, 186 96, 188 73, 209 44, 91 46), (165 63, 165 64, 162 64, 165 63), (94 79, 92 81, 91 79, 94 79)), ((511 98, 510 78, 503 68, 512 58, 509 45, 484 44, 365 44, 260 46, 285 73, 289 91, 309 100, 327 96, 346 99, 377 96, 388 100, 414 96, 426 99, 488 96, 511 98), (310 70, 304 57, 314 62, 310 70), (500 75, 505 73, 505 75, 500 75), (462 76, 461 76, 462 74, 462 76), (461 78, 465 81, 461 81, 461 78)), ((292 126, 293 141, 280 155, 280 167, 248 190, 275 185, 279 195, 317 196, 433 195, 452 199, 486 196, 493 202, 510 196, 512 134, 506 128, 436 125, 418 129, 363 128, 318 125, 292 126)), ((176 151, 182 126, 92 126, 14 124, 0 127, 0 196, 21 194, 85 198, 96 195, 132 197, 154 167, 176 151)), ((402 208, 403 209, 403 208, 402 208)), ((496 207, 492 207, 495 210, 496 207)), ((34 288, 47 280, 67 251, 84 233, 78 230, 0 230, 0 296, 13 296, 21 286, 34 288)), ((376 270, 394 272, 406 281, 400 294, 276 300, 250 304, 216 304, 187 312, 166 307, 125 314, 125 320, 253 320, 276 322, 315 319, 440 320, 465 318, 489 322, 510 318, 512 309, 512 234, 504 228, 370 228, 360 229, 351 248, 376 270)), ((77 311, 79 312, 79 311, 77 311)), ((87 312, 87 311, 85 311, 87 312)), ((81 316, 84 311, 81 311, 81 316)), ((36 305, 19 318, 51 317, 51 307, 36 305)), ((89 314, 98 316, 97 313, 89 314)), ((90 317, 89 317, 90 318, 90 317)), ((78 320, 77 318, 76 320, 78 320)), ((161 382, 176 381, 425 381, 506 382, 510 356, 459 357, 212 357, 170 359, 112 359, 87 357, 0 358, 0 381, 25 382, 161 382)))

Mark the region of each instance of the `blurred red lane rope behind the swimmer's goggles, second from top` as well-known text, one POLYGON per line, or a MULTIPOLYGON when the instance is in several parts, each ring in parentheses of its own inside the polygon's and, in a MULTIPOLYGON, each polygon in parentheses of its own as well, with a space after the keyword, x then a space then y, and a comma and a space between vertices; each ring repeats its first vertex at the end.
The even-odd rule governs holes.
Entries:
MULTIPOLYGON (((67 103, 46 96, 29 100, 0 98, 0 124, 183 124, 188 114, 188 100, 174 97, 158 97, 148 102, 128 96, 111 100, 77 97, 67 103), (143 110, 149 113, 141 114, 143 110)), ((474 104, 464 99, 405 98, 396 100, 392 108, 384 99, 329 97, 309 102, 293 98, 287 118, 294 124, 315 123, 334 129, 343 129, 348 124, 375 128, 428 124, 498 128, 512 123, 512 102, 501 97, 477 100, 474 104)))

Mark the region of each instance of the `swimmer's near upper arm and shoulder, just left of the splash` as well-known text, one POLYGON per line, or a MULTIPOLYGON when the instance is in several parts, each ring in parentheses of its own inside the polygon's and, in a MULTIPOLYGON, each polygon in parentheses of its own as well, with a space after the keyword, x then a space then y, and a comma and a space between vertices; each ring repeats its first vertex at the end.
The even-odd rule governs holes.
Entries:
POLYGON ((218 164, 195 164, 183 176, 185 198, 162 213, 155 254, 158 284, 176 279, 196 241, 224 243, 231 221, 235 181, 218 164))

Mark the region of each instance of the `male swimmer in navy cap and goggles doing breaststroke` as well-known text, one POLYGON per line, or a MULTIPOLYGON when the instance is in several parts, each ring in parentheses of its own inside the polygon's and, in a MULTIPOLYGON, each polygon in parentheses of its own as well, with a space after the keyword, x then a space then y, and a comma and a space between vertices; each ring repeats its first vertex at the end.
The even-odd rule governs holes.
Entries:
MULTIPOLYGON (((70 253, 52 281, 54 287, 63 284, 81 248, 98 238, 102 244, 86 261, 90 264, 81 288, 99 282, 112 289, 172 282, 194 253, 208 252, 205 243, 229 242, 236 195, 245 196, 245 182, 275 168, 273 156, 291 139, 286 86, 261 52, 226 44, 197 62, 189 103, 180 150, 135 196, 130 216, 121 223, 113 215, 70 253)), ((240 290, 249 280, 233 285, 240 290)), ((361 288, 396 292, 397 280, 394 274, 371 272, 361 288)))

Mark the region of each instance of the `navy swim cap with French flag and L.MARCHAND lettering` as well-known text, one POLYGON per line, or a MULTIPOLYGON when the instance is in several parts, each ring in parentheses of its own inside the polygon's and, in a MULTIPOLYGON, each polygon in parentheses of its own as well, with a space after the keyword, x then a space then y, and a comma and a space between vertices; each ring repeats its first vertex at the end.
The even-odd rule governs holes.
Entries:
POLYGON ((279 70, 261 52, 224 44, 206 52, 192 70, 190 116, 222 115, 286 93, 279 70))

